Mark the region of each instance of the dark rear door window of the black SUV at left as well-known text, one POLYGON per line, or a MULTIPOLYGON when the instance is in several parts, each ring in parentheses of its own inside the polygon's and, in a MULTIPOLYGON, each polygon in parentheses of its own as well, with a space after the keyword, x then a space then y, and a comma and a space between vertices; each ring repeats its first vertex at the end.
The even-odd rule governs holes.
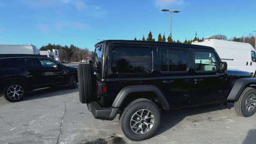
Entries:
POLYGON ((18 68, 37 67, 35 58, 15 58, 15 64, 18 68))

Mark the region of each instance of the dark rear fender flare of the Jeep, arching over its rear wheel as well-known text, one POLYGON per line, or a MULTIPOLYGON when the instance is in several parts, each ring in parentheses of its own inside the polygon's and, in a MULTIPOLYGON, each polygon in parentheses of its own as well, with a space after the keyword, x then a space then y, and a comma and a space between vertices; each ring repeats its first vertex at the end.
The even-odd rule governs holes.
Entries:
POLYGON ((160 104, 164 108, 164 110, 170 110, 170 105, 167 102, 166 98, 162 94, 162 92, 153 85, 134 85, 134 86, 126 86, 120 90, 116 99, 114 100, 112 107, 121 107, 122 103, 124 102, 125 98, 133 93, 133 92, 154 92, 158 99, 160 100, 160 104))

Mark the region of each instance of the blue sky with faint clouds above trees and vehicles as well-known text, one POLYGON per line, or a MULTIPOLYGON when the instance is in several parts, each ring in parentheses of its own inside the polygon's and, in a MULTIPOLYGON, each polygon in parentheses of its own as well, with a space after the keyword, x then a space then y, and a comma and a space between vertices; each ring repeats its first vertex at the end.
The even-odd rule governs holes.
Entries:
POLYGON ((96 39, 132 40, 170 32, 174 40, 256 30, 255 0, 1 0, 0 44, 48 43, 94 49, 96 39))

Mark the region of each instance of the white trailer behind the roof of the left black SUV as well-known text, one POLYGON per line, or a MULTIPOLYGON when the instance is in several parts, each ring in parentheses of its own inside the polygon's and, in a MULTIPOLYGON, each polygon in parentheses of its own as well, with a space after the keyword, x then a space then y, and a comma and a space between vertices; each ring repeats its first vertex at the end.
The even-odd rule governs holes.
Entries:
POLYGON ((0 54, 40 54, 36 46, 30 45, 0 45, 0 54))

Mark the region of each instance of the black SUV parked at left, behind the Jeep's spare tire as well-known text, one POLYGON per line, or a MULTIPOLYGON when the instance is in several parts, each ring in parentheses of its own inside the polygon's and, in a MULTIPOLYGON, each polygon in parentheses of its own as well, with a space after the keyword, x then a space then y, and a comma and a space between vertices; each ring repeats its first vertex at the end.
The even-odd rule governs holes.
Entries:
POLYGON ((10 102, 30 90, 64 84, 76 88, 77 68, 40 55, 0 54, 0 91, 10 102))

